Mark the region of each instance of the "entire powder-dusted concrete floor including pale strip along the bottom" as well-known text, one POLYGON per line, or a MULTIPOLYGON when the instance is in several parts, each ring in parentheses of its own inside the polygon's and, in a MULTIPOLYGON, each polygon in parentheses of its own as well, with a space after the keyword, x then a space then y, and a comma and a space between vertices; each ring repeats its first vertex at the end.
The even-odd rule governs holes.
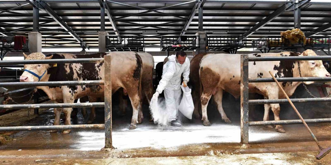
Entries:
MULTIPOLYGON (((159 127, 148 121, 148 109, 144 107, 145 118, 143 123, 137 125, 135 130, 128 130, 132 110, 128 110, 125 116, 120 117, 117 115, 118 108, 113 106, 113 146, 116 149, 101 150, 105 143, 103 130, 72 130, 70 134, 66 135, 62 135, 60 132, 25 131, 10 135, 12 140, 0 146, 0 164, 21 164, 22 162, 20 161, 23 160, 31 161, 31 164, 108 164, 110 162, 114 163, 114 161, 117 163, 122 162, 122 164, 138 161, 154 162, 155 164, 199 164, 196 163, 199 160, 201 160, 200 164, 217 164, 217 162, 222 162, 223 158, 224 161, 228 160, 229 164, 243 164, 241 160, 246 160, 247 157, 250 160, 244 164, 257 164, 254 163, 255 160, 265 156, 268 161, 273 162, 272 164, 277 164, 275 163, 277 159, 283 160, 279 161, 280 163, 278 164, 293 164, 292 153, 288 152, 296 152, 295 154, 298 154, 298 151, 305 151, 301 157, 308 157, 310 161, 310 163, 301 164, 323 164, 323 161, 321 163, 313 159, 313 155, 318 154, 318 148, 303 125, 284 125, 286 133, 278 133, 275 129, 268 129, 262 126, 250 127, 250 144, 241 145, 240 104, 237 104, 239 100, 234 100, 234 98, 227 95, 224 95, 224 98, 230 99, 230 101, 223 102, 223 108, 227 116, 232 120, 231 124, 222 122, 215 107, 210 106, 208 110, 208 116, 212 124, 210 127, 203 126, 201 120, 188 120, 185 118, 181 118, 182 127, 159 127), (273 154, 276 152, 283 153, 276 155, 276 157, 278 156, 276 159, 273 154), (246 155, 246 158, 240 156, 243 153, 246 155), (237 156, 227 157, 226 159, 226 156, 223 156, 232 154, 237 156), (262 155, 248 156, 250 154, 262 155), (169 156, 173 158, 165 158, 165 162, 168 163, 164 163, 163 159, 159 158, 169 156), (144 159, 140 157, 144 157, 144 159), (149 159, 148 157, 154 158, 149 159), (117 158, 124 159, 118 160, 117 158), (69 159, 72 161, 66 161, 69 159), (89 160, 85 161, 85 159, 89 160), (187 162, 186 159, 190 159, 190 161, 187 162), (237 159, 238 161, 236 161, 237 159), (206 160, 212 161, 208 162, 206 160), (1 163, 1 161, 3 162, 1 163)), ((323 105, 323 110, 325 107, 327 105, 323 105)), ((263 111, 259 110, 261 107, 250 106, 250 108, 253 108, 253 110, 250 109, 250 113, 254 113, 250 115, 250 120, 262 120, 263 111)), ((300 104, 297 108, 303 113, 304 118, 312 118, 311 116, 317 115, 318 118, 324 118, 328 117, 324 114, 329 114, 329 109, 327 109, 327 111, 318 111, 317 115, 316 112, 312 115, 311 109, 316 108, 315 103, 300 104)), ((296 119, 291 114, 292 111, 286 109, 286 106, 282 105, 281 109, 281 119, 296 119)), ((20 111, 23 114, 27 113, 27 110, 20 111)), ((0 116, 0 122, 8 121, 10 118, 7 126, 17 124, 15 120, 17 115, 15 113, 0 116)), ((272 113, 270 114, 272 116, 272 113)), ((19 116, 17 120, 21 120, 24 116, 25 114, 19 116)), ((26 122, 20 122, 18 125, 22 125, 22 123, 23 125, 52 125, 54 121, 52 110, 45 110, 40 116, 34 117, 34 119, 25 117, 26 122)), ((271 117, 270 119, 273 118, 271 117)), ((102 109, 98 109, 94 123, 104 123, 103 120, 104 112, 102 109)), ((77 118, 72 118, 71 121, 72 124, 85 124, 87 122, 81 113, 78 114, 77 118)), ((61 124, 63 124, 62 119, 61 124)), ((0 123, 0 125, 2 124, 0 123)), ((331 145, 330 123, 309 124, 309 126, 311 126, 311 130, 322 146, 331 145)), ((331 154, 325 156, 324 160, 331 160, 331 154)), ((262 158, 260 161, 264 161, 264 159, 262 158)), ((300 164, 300 161, 298 159, 295 162, 300 164)))

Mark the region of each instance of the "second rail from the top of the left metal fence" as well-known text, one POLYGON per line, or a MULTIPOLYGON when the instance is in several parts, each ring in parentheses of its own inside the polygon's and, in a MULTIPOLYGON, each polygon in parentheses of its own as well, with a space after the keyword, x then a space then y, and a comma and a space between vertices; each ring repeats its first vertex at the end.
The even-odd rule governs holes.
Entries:
POLYGON ((76 85, 103 85, 103 80, 89 81, 57 81, 57 82, 0 82, 0 86, 76 86, 76 85))

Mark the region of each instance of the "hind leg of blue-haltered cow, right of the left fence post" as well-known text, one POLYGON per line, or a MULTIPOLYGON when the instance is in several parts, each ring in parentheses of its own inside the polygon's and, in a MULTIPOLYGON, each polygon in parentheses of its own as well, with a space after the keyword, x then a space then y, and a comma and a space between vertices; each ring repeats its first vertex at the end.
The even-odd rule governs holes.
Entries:
POLYGON ((128 90, 129 98, 131 101, 132 106, 132 118, 131 118, 131 125, 129 129, 136 129, 138 123, 138 114, 140 110, 140 97, 139 94, 136 92, 132 92, 132 90, 128 90))

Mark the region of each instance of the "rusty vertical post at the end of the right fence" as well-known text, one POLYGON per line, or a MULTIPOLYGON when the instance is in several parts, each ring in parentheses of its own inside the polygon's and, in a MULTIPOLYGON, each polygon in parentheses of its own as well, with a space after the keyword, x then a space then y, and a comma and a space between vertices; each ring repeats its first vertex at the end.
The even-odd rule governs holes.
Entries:
POLYGON ((248 54, 241 55, 240 65, 240 142, 248 144, 248 54))

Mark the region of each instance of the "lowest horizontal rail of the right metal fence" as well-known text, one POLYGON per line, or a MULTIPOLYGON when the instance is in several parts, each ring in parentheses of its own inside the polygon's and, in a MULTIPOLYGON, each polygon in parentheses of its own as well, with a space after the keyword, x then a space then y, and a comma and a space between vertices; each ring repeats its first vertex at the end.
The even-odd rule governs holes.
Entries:
MULTIPOLYGON (((316 119, 305 119, 306 123, 329 123, 331 118, 316 118, 316 119)), ((262 126, 262 125, 286 125, 286 124, 302 124, 301 120, 279 120, 279 121, 250 121, 249 126, 262 126)))

